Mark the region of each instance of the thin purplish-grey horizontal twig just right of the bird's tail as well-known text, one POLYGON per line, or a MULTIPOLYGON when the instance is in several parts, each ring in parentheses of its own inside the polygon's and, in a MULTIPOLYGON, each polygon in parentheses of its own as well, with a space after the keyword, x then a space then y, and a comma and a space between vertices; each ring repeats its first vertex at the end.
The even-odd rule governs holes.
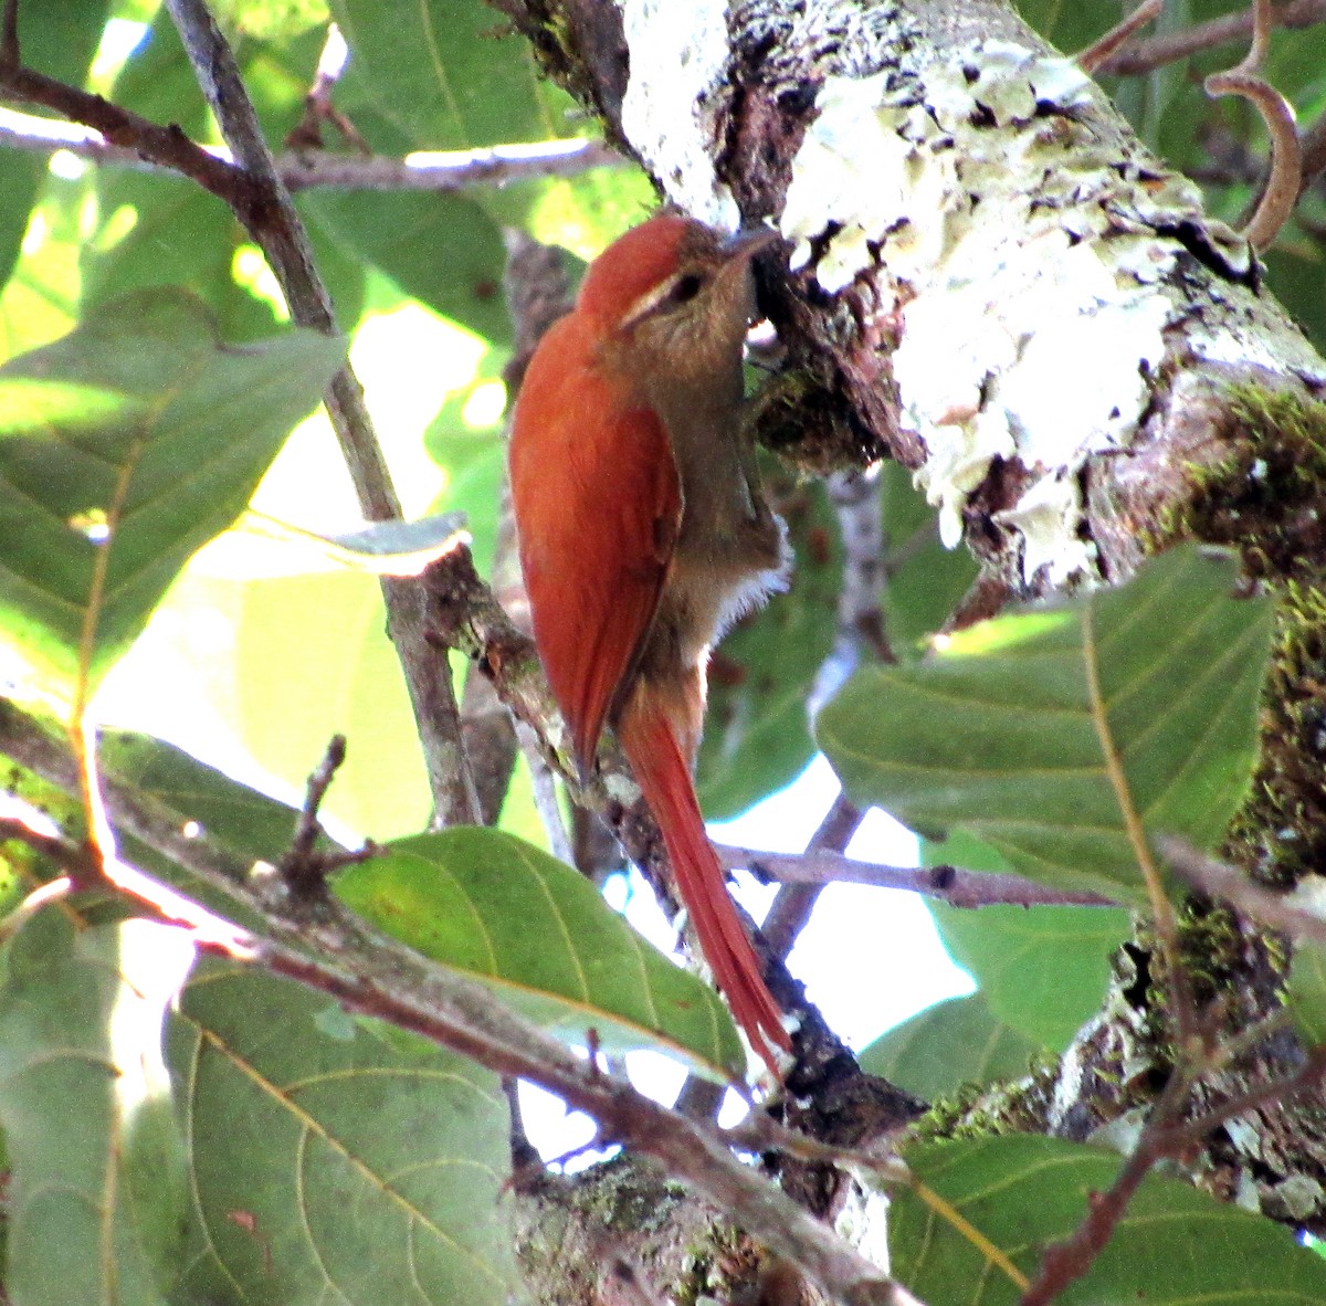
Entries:
POLYGON ((937 898, 951 907, 1116 907, 1101 894, 1052 888, 1020 875, 968 871, 956 866, 887 866, 861 862, 841 853, 762 853, 715 845, 719 861, 728 870, 745 868, 760 879, 785 884, 871 884, 876 888, 903 888, 926 898, 937 898))

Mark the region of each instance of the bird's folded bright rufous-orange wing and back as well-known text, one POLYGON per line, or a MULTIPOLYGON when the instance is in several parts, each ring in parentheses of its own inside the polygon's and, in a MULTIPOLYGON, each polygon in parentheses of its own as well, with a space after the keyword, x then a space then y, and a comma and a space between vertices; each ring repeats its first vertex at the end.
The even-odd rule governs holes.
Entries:
POLYGON ((516 406, 512 500, 534 640, 587 770, 658 607, 682 487, 662 420, 603 378, 575 314, 553 333, 516 406))

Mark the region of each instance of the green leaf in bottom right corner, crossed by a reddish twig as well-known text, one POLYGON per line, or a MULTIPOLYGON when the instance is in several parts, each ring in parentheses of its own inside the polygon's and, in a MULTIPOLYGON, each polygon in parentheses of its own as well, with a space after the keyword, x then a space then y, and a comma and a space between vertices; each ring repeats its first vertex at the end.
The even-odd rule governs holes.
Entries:
MULTIPOLYGON (((939 1193, 1028 1278, 1067 1237, 1122 1158, 1059 1139, 1010 1135, 906 1148, 939 1193)), ((890 1208, 894 1273, 927 1306, 1014 1306, 1020 1291, 914 1191, 890 1208)), ((1144 1180, 1114 1237, 1055 1306, 1309 1306, 1326 1299, 1326 1265, 1289 1229, 1176 1179, 1144 1180)))

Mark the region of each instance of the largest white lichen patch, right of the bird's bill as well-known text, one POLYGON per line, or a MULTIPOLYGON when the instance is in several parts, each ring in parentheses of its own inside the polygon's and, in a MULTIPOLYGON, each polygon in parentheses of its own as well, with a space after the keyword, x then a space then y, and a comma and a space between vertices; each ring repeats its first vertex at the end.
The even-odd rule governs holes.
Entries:
POLYGON ((1179 247, 1156 231, 1207 227, 1192 183, 1086 125, 1097 94, 1071 61, 1006 41, 830 78, 781 223, 794 267, 818 251, 830 293, 867 273, 900 318, 903 424, 945 544, 993 459, 1032 473, 997 517, 1028 581, 1091 574, 1078 473, 1132 440, 1179 316, 1179 247))

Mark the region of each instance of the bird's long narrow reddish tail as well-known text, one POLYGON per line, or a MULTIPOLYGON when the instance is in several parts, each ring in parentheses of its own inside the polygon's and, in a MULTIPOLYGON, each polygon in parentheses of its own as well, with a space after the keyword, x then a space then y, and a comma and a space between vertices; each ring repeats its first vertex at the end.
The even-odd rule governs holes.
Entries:
POLYGON ((751 940, 728 896, 723 867, 704 833, 704 818, 666 708, 638 687, 622 713, 617 736, 667 847, 682 902, 700 940, 704 960, 727 996, 751 1046, 781 1078, 770 1043, 790 1050, 781 1012, 764 982, 751 940))

